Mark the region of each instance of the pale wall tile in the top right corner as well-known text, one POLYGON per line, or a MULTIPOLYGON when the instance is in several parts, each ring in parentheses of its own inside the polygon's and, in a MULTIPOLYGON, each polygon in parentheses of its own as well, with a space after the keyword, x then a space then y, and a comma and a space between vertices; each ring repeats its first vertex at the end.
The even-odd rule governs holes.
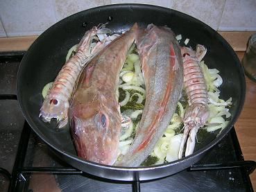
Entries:
POLYGON ((256 30, 256 1, 227 0, 219 30, 256 30))

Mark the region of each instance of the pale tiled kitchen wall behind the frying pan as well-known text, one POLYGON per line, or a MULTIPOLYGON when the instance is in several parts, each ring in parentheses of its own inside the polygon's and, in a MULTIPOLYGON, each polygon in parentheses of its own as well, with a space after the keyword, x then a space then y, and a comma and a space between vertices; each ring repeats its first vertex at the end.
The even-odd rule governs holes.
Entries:
POLYGON ((215 30, 256 30, 256 0, 0 0, 0 37, 40 35, 81 10, 111 3, 146 3, 185 12, 215 30))

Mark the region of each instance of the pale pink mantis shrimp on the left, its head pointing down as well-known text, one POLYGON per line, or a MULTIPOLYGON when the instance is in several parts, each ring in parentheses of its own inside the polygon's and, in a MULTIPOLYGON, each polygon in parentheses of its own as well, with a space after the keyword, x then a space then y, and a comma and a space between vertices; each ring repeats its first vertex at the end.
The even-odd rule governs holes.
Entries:
POLYGON ((104 25, 99 27, 94 26, 92 29, 87 30, 78 44, 76 54, 67 60, 58 73, 40 109, 39 116, 41 116, 44 121, 49 122, 53 118, 57 119, 59 128, 67 124, 69 98, 71 97, 80 71, 82 71, 85 64, 87 64, 96 53, 99 53, 108 43, 107 41, 109 41, 98 42, 93 46, 92 40, 97 40, 97 34, 110 33, 110 30, 103 28, 103 26, 104 25))

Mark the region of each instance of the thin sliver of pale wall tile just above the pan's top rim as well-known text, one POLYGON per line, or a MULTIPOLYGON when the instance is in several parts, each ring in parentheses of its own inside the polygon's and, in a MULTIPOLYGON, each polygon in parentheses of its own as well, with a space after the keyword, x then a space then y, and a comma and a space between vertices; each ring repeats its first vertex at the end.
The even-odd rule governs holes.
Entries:
POLYGON ((112 4, 117 3, 141 3, 141 4, 148 4, 148 5, 154 5, 154 6, 162 6, 166 8, 171 7, 171 1, 170 0, 111 0, 112 4))

